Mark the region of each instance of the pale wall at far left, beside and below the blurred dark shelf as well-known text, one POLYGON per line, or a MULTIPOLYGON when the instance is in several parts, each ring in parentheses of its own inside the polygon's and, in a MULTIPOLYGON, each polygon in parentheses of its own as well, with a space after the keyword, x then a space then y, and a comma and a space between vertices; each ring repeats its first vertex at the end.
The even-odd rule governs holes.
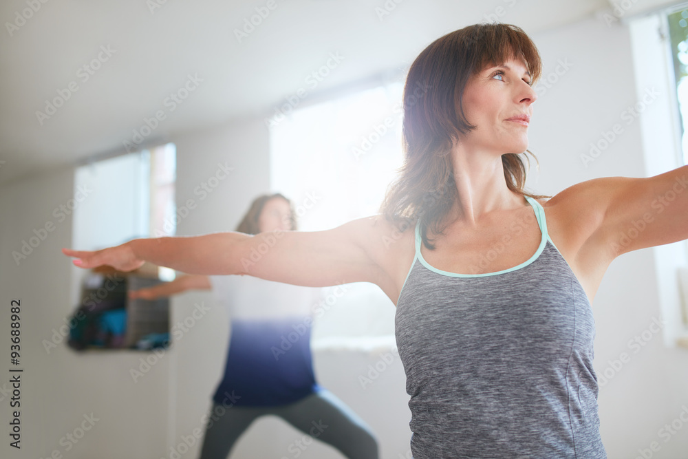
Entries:
MULTIPOLYGON (((3 167, 12 164, 7 162, 3 167)), ((8 357, 9 303, 21 299, 20 366, 24 369, 19 407, 21 451, 11 448, 6 437, 0 456, 45 458, 58 451, 65 458, 156 457, 166 441, 166 363, 155 365, 135 384, 129 369, 138 366, 141 354, 79 355, 67 348, 65 341, 59 343, 66 334, 59 334, 64 319, 76 307, 70 291, 76 268, 70 268, 60 251, 72 246, 72 220, 62 217, 60 206, 70 205, 73 186, 74 170, 69 167, 10 182, 0 189, 0 330, 8 357), (22 241, 30 243, 34 229, 41 233, 46 224, 52 231, 44 234, 40 244, 34 239, 36 247, 17 265, 12 251, 19 252, 22 241), (59 344, 46 350, 43 340, 53 339, 59 344), (92 428, 76 445, 67 440, 67 434, 80 428, 83 416, 91 414, 98 419, 92 428), (136 422, 131 422, 134 419, 136 422)), ((3 391, 11 389, 8 366, 6 361, 0 381, 3 391)), ((10 394, 3 392, 0 397, 1 423, 8 426, 10 394)), ((80 434, 76 432, 76 436, 80 434)))

